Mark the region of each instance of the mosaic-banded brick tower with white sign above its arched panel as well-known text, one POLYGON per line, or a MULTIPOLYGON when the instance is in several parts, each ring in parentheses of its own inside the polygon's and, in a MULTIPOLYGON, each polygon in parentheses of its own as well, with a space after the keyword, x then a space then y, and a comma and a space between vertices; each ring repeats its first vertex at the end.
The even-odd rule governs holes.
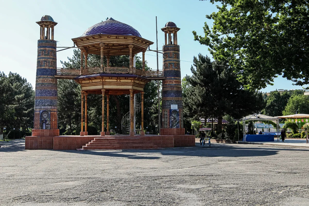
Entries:
POLYGON ((180 28, 178 28, 173 22, 167 22, 165 27, 161 30, 164 32, 165 36, 165 45, 162 48, 165 79, 162 82, 163 130, 161 131, 167 131, 165 128, 175 128, 175 131, 177 132, 171 132, 170 134, 182 135, 184 134, 184 129, 180 75, 180 50, 179 45, 177 45, 177 32, 180 28))

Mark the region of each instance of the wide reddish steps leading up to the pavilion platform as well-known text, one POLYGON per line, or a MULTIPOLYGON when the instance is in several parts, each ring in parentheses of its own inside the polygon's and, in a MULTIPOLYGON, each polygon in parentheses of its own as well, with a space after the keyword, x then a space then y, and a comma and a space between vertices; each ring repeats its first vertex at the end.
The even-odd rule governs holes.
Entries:
POLYGON ((83 146, 83 150, 91 149, 157 149, 158 146, 139 137, 102 137, 94 138, 83 146))

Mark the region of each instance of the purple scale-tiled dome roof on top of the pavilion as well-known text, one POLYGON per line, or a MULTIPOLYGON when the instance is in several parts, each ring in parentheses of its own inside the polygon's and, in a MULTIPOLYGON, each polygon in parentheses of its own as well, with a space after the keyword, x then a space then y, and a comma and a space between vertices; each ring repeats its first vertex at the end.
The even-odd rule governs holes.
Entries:
POLYGON ((110 34, 110 35, 125 35, 125 36, 138 36, 142 37, 140 33, 129 26, 128 24, 116 21, 113 18, 109 18, 106 21, 97 23, 92 27, 89 27, 82 36, 89 36, 94 34, 110 34))

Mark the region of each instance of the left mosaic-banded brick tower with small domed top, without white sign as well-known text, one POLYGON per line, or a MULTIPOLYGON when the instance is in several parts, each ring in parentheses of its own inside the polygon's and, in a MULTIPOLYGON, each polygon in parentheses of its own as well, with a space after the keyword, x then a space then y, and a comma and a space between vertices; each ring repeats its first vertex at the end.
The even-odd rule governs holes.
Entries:
POLYGON ((54 40, 56 22, 44 15, 40 21, 40 39, 36 65, 36 95, 34 129, 57 129, 57 42, 54 40))

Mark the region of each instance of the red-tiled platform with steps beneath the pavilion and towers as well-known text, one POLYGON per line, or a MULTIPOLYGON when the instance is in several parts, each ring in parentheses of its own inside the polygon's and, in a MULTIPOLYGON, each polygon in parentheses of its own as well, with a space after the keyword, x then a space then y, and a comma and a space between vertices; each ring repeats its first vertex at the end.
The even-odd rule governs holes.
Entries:
MULTIPOLYGON (((194 135, 66 135, 51 136, 50 132, 36 132, 38 136, 25 138, 25 149, 156 149, 195 146, 194 135), (40 134, 38 134, 40 133, 40 134), (49 136, 42 136, 43 134, 49 136), (39 136, 40 135, 40 136, 39 136)), ((33 133, 32 133, 33 135, 33 133)))

